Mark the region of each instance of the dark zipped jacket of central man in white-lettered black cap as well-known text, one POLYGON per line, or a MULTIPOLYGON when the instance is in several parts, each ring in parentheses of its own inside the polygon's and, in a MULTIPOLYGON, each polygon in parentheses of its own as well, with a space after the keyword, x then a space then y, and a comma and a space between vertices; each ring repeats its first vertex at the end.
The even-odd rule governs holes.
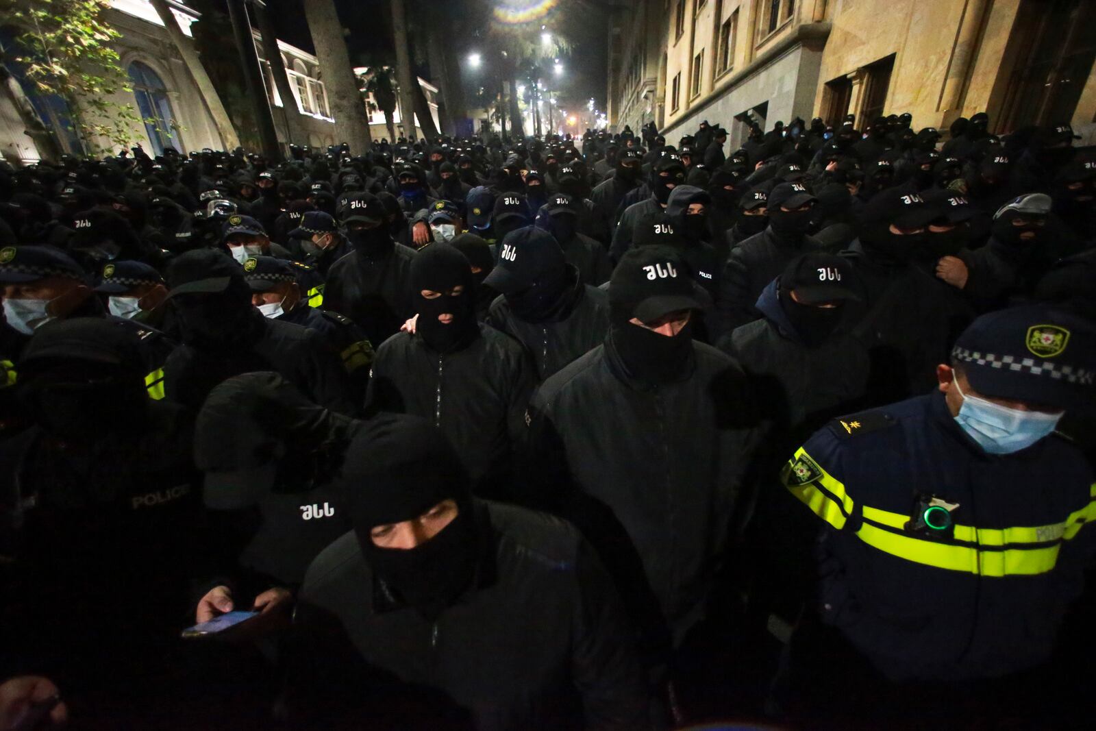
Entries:
POLYGON ((609 336, 530 408, 530 499, 591 537, 646 636, 665 621, 675 642, 705 615, 757 434, 738 364, 692 345, 681 380, 649 386, 609 336))

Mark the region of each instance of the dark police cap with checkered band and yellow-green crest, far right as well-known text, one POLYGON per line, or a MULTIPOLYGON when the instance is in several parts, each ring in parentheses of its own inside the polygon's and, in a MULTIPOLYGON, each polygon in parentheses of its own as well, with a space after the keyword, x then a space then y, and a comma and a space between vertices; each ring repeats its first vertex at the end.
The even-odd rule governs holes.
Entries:
POLYGON ((1096 331, 1046 305, 1013 307, 970 323, 951 359, 979 393, 1069 409, 1092 399, 1096 331))

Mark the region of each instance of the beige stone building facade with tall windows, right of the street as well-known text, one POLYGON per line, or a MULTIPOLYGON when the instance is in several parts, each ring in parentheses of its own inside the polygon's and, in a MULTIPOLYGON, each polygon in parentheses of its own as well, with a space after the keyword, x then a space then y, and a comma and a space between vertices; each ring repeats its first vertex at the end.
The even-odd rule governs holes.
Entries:
POLYGON ((609 123, 654 118, 675 140, 708 119, 733 149, 751 122, 910 112, 946 130, 985 111, 998 134, 1070 122, 1092 141, 1093 27, 1091 0, 647 0, 610 23, 609 123), (655 15, 637 72, 640 18, 655 15))

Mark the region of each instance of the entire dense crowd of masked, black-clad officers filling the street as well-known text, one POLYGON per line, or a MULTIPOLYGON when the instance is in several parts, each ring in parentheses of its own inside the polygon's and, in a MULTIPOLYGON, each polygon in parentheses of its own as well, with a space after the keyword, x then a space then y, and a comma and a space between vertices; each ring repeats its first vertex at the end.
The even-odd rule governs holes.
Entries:
POLYGON ((1083 722, 1096 153, 866 122, 0 168, 0 729, 1083 722))

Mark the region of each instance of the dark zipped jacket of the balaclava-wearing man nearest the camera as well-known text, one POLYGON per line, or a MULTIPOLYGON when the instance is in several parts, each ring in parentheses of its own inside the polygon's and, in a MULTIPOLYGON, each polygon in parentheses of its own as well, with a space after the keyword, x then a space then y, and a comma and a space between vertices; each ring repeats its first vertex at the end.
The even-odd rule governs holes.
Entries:
POLYGON ((579 532, 475 502, 471 585, 433 623, 387 591, 354 533, 309 568, 294 728, 636 731, 644 678, 613 581, 579 532))

